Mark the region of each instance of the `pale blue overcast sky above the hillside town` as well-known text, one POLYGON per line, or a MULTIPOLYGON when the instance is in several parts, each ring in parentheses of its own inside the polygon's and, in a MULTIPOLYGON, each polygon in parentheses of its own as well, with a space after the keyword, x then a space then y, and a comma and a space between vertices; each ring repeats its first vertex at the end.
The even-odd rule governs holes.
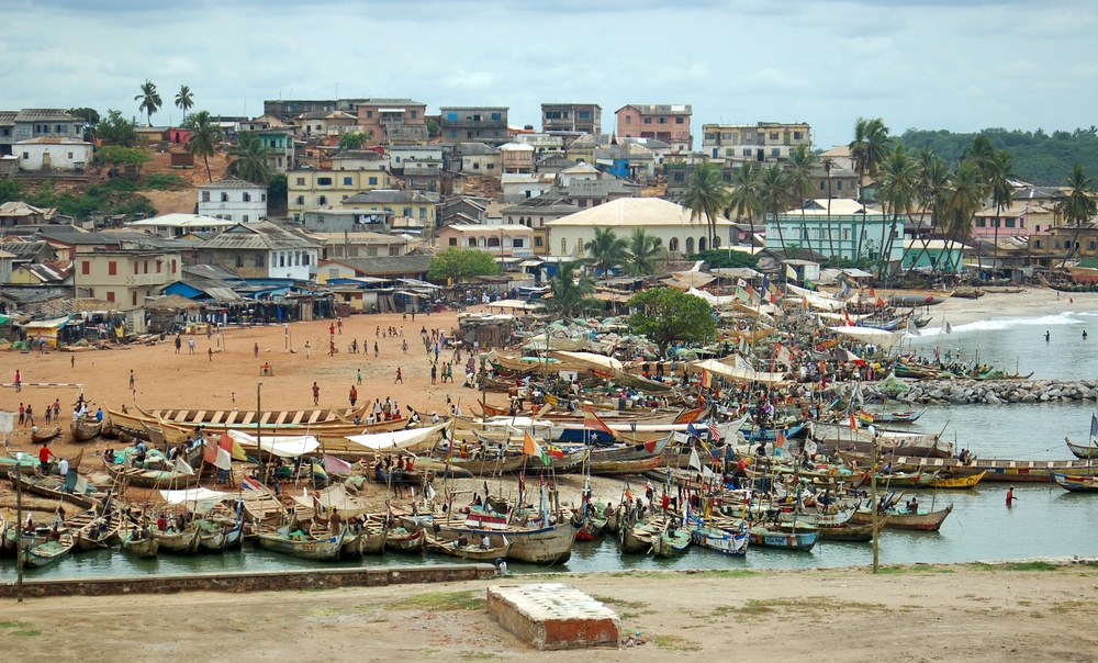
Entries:
POLYGON ((265 99, 410 97, 507 105, 691 103, 706 122, 808 122, 819 147, 859 116, 909 127, 1098 124, 1088 0, 3 0, 0 108, 137 115, 147 78, 179 121, 265 99))

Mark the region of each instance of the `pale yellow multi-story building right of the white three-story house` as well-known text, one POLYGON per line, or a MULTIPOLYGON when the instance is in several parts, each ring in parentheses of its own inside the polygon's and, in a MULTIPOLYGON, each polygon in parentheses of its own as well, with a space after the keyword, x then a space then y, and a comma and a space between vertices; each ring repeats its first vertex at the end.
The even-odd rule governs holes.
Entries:
POLYGON ((355 169, 340 169, 333 158, 333 170, 294 170, 287 175, 287 213, 301 221, 305 210, 335 205, 361 191, 390 187, 388 161, 374 153, 343 153, 355 169), (348 156, 349 155, 349 156, 348 156), (350 156, 359 155, 351 159, 350 156), (372 155, 368 156, 368 155, 372 155))

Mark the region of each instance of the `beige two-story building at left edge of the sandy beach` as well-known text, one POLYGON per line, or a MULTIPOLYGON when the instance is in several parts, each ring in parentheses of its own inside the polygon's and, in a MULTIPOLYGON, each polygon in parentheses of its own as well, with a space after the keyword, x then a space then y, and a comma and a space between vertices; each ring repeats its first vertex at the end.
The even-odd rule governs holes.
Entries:
POLYGON ((120 311, 137 308, 179 279, 181 263, 179 252, 161 249, 80 252, 74 266, 76 295, 112 302, 120 311))

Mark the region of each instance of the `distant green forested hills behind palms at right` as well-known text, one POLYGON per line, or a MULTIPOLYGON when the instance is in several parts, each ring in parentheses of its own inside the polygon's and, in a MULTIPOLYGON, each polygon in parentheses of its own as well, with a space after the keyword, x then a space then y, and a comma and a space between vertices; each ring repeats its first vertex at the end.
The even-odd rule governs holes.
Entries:
MULTIPOLYGON (((999 149, 1013 154, 1015 176, 1031 184, 1061 186, 1075 164, 1083 164, 1087 175, 1098 176, 1098 127, 1052 134, 1040 128, 1035 132, 985 128, 979 133, 986 134, 999 149)), ((911 151, 929 147, 952 165, 976 135, 909 128, 897 139, 911 151)))

